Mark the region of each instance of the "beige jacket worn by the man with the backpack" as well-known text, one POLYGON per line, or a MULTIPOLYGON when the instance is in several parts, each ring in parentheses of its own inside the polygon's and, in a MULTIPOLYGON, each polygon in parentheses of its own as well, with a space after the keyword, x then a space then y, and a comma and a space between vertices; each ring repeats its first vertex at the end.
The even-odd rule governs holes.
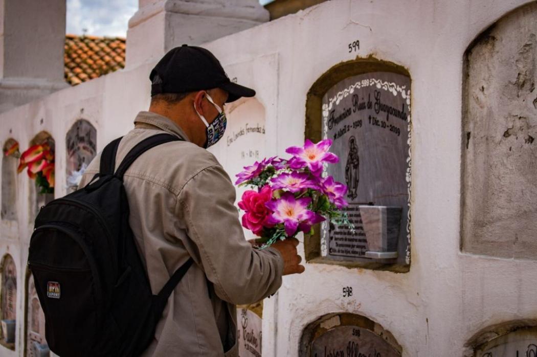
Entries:
MULTIPOLYGON (((171 274, 194 259, 168 300, 144 356, 237 356, 235 304, 253 303, 281 285, 283 261, 252 249, 234 206, 235 188, 216 158, 188 141, 166 117, 140 112, 121 140, 116 168, 141 140, 168 132, 185 141, 143 153, 124 178, 130 227, 157 294, 171 274), (227 351, 224 354, 224 350, 227 351)), ((99 170, 100 154, 80 187, 99 170)))

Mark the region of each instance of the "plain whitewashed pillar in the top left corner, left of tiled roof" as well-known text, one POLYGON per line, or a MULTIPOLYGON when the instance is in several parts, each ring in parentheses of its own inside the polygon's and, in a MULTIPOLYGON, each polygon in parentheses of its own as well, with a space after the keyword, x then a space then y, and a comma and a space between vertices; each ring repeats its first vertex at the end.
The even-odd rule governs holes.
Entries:
POLYGON ((66 2, 0 0, 0 113, 68 85, 66 2))

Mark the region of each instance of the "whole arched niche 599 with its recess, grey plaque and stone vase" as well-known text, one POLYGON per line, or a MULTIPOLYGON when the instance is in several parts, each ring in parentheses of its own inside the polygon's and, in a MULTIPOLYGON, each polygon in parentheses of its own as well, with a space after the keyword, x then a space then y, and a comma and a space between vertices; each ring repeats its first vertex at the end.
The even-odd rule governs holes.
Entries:
POLYGON ((349 187, 354 231, 323 222, 304 241, 307 261, 397 272, 410 269, 409 72, 373 57, 339 63, 311 86, 306 138, 331 139, 325 173, 349 187))

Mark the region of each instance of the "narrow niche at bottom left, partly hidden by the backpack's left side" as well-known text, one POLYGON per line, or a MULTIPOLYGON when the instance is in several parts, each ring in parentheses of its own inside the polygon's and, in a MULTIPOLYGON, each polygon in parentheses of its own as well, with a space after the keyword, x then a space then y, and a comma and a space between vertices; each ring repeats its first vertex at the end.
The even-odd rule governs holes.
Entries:
POLYGON ((41 309, 33 276, 26 273, 26 309, 25 309, 25 350, 26 357, 48 356, 49 348, 45 339, 45 314, 41 309))

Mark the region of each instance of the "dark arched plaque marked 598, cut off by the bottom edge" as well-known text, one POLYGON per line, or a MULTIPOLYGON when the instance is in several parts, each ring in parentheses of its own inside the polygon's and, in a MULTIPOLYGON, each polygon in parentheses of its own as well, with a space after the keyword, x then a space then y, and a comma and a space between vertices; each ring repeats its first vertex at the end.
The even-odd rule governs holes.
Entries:
POLYGON ((401 357, 377 334, 358 326, 340 326, 313 340, 313 357, 401 357))

